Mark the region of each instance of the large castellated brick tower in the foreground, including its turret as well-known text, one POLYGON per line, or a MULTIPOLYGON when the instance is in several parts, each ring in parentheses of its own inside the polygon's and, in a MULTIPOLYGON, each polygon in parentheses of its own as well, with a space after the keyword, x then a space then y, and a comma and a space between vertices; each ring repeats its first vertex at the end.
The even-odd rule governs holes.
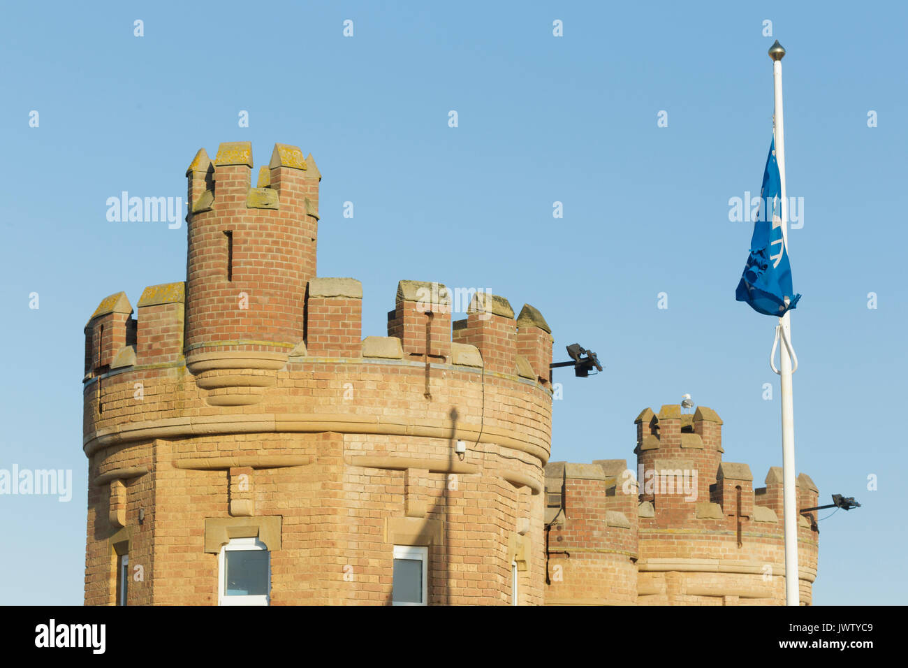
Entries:
POLYGON ((85 603, 543 603, 542 314, 452 322, 400 281, 363 337, 360 282, 316 275, 311 155, 251 175, 199 151, 186 281, 85 326, 85 603))

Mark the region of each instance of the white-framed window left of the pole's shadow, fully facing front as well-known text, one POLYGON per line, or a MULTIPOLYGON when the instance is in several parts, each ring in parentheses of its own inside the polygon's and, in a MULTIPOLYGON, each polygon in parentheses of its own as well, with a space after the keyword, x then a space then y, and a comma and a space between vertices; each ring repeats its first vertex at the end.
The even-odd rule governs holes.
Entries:
POLYGON ((232 538, 218 557, 219 605, 268 605, 271 553, 255 538, 232 538))

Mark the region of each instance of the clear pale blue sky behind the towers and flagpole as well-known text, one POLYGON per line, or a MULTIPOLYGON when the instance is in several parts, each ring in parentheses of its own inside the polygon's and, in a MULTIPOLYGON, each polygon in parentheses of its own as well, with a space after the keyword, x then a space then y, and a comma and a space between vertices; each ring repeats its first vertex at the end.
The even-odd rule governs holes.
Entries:
POLYGON ((788 194, 804 198, 797 469, 822 502, 864 504, 821 523, 814 602, 903 603, 904 5, 425 5, 5 6, 0 468, 72 469, 74 495, 0 496, 0 603, 82 602, 83 327, 107 294, 134 305, 185 278, 184 224, 111 223, 105 201, 185 198, 192 156, 224 141, 252 141, 256 171, 275 142, 315 157, 319 274, 362 281, 364 335, 386 334, 400 279, 434 280, 537 306, 558 359, 596 350, 604 374, 558 373, 553 460, 632 464, 640 410, 690 393, 762 484, 781 464, 775 322, 735 302, 753 226, 728 200, 759 192, 775 38, 788 194))

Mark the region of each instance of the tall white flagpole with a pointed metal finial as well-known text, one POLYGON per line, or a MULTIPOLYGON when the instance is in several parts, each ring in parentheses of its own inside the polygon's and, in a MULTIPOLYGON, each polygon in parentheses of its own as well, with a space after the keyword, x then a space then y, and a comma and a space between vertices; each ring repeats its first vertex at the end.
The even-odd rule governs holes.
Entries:
MULTIPOLYGON (((782 115, 782 58, 785 49, 775 42, 769 49, 773 59, 773 84, 775 92, 775 162, 779 167, 779 180, 782 195, 782 239, 785 253, 788 253, 788 198, 785 193, 785 126, 782 115)), ((785 304, 788 298, 785 298, 785 304)), ((792 358, 789 354, 791 345, 791 312, 779 318, 782 326, 783 344, 779 379, 782 389, 782 489, 783 513, 785 514, 785 604, 800 605, 800 576, 797 565, 797 490, 795 487, 795 405, 792 399, 792 358), (788 344, 785 344, 787 340, 788 344)))

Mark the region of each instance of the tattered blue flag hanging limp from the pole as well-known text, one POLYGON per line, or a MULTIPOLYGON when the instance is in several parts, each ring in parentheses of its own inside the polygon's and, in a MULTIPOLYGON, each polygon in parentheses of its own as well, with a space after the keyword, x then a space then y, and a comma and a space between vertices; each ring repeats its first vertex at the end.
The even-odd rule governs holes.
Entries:
POLYGON ((735 298, 750 304, 757 313, 779 317, 795 308, 801 298, 792 289, 792 270, 782 236, 782 179, 775 162, 775 137, 769 145, 763 172, 760 215, 754 225, 750 255, 735 298), (785 297, 791 300, 787 307, 785 297))

